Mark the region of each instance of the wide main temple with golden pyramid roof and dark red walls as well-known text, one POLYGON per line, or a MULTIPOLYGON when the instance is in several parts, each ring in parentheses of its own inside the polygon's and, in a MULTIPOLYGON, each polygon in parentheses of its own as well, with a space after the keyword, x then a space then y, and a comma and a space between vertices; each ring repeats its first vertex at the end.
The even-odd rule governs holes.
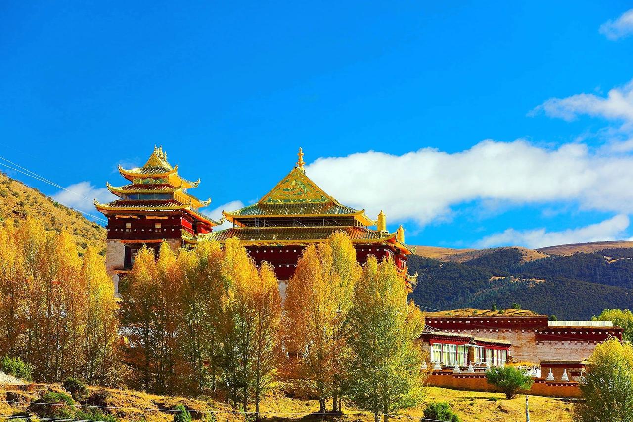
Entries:
POLYGON ((406 258, 413 250, 404 244, 403 227, 390 233, 382 211, 373 220, 365 210, 342 205, 306 176, 304 164, 299 148, 296 166, 257 203, 222 213, 233 227, 200 234, 198 240, 222 243, 239 238, 257 265, 262 261, 274 265, 283 294, 304 248, 324 241, 335 231, 345 231, 356 248, 360 264, 367 261, 368 255, 379 260, 390 257, 411 289, 417 274, 410 276, 407 272, 406 258))

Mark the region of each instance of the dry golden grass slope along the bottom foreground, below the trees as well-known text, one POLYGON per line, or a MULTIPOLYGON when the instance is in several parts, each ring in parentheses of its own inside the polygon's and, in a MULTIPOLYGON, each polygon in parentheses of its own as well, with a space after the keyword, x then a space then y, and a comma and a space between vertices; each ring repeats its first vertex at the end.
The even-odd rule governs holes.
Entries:
MULTIPOLYGON (((125 421, 163 421, 173 420, 172 409, 177 404, 184 404, 197 420, 206 420, 204 415, 211 411, 218 422, 244 422, 241 412, 235 412, 225 404, 204 399, 184 399, 182 397, 163 397, 146 393, 110 388, 90 387, 87 399, 92 406, 104 406, 106 414, 113 414, 120 422, 125 421), (197 411, 197 412, 196 412, 197 411)), ((59 385, 34 385, 30 387, 0 386, 0 421, 2 415, 18 414, 29 411, 30 402, 35 402, 46 392, 64 392, 59 385), (18 402, 18 403, 15 403, 18 402)), ((449 402, 464 422, 479 421, 515 421, 525 418, 525 399, 523 396, 513 400, 503 399, 501 393, 480 393, 448 390, 446 388, 429 387, 425 404, 402 411, 392 420, 401 422, 417 421, 423 416, 423 409, 429 402, 449 402)), ((568 422, 571 421, 572 406, 568 400, 548 397, 530 396, 530 420, 532 422, 568 422)), ((249 409, 251 410, 251 409, 249 409)), ((316 400, 290 399, 281 394, 268 395, 260 404, 264 422, 301 421, 317 422, 323 420, 341 422, 373 422, 373 415, 344 404, 344 414, 323 418, 315 415, 318 412, 316 400)), ((213 419, 211 419, 213 420, 213 419)))

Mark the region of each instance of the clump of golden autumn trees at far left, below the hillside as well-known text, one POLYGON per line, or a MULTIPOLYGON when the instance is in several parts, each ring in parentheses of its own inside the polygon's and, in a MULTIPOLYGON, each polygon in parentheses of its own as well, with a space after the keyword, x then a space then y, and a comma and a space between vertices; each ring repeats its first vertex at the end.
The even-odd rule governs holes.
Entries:
POLYGON ((30 217, 0 226, 0 248, 0 350, 38 381, 113 381, 116 303, 103 259, 80 258, 70 234, 30 217))

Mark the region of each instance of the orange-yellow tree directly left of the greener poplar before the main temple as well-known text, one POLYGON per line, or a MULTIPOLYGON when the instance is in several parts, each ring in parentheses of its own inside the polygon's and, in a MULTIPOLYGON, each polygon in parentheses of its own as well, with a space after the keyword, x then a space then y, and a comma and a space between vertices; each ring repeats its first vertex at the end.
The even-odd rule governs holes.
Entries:
POLYGON ((286 290, 284 337, 288 350, 298 355, 289 362, 290 376, 318 397, 320 411, 329 397, 334 410, 339 406, 348 355, 344 321, 359 274, 348 236, 334 233, 304 250, 286 290))

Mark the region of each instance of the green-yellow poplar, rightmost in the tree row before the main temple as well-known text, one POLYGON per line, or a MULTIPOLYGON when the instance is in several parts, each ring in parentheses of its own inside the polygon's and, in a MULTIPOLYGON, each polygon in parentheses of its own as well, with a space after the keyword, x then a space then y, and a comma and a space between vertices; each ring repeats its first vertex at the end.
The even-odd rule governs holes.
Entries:
POLYGON ((402 277, 391 260, 370 255, 356 284, 349 311, 348 393, 362 409, 380 413, 422 400, 422 352, 418 338, 424 321, 418 307, 406 303, 402 277))

